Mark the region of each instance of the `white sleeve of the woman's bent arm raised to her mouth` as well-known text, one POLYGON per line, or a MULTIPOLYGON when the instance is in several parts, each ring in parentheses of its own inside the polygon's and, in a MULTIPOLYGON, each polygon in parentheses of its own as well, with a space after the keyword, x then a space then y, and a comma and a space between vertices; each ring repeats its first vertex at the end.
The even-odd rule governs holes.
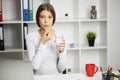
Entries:
POLYGON ((27 44, 29 60, 31 61, 33 68, 37 70, 39 69, 43 57, 45 56, 44 51, 46 49, 46 45, 40 43, 38 49, 35 50, 33 39, 29 35, 27 35, 26 37, 26 44, 27 44))

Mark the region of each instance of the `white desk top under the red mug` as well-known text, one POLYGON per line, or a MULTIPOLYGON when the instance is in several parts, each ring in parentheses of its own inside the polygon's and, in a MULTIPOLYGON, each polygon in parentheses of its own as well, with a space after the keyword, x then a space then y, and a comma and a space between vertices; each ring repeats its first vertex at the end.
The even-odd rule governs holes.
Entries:
POLYGON ((94 77, 87 77, 85 74, 59 74, 59 75, 34 75, 34 80, 102 80, 100 72, 94 77))

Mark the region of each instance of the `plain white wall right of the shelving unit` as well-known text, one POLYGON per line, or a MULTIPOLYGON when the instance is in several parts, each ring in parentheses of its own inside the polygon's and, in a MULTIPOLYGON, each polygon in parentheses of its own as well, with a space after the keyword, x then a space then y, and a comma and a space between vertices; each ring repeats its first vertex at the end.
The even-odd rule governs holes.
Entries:
POLYGON ((120 0, 108 0, 108 66, 120 68, 120 0))

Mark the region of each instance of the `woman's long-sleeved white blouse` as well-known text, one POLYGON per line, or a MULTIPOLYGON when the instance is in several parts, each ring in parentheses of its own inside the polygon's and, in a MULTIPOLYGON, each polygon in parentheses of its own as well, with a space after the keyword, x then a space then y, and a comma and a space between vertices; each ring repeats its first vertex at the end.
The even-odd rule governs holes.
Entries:
POLYGON ((58 74, 66 69, 66 48, 59 53, 54 43, 54 38, 40 43, 41 36, 35 31, 26 37, 28 56, 35 74, 58 74))

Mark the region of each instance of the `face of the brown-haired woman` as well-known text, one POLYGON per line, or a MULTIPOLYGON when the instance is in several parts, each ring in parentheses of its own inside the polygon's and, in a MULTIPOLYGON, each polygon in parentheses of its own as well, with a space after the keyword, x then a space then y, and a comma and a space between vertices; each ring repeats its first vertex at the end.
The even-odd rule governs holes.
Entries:
POLYGON ((50 11, 43 10, 39 16, 39 24, 42 29, 50 29, 53 24, 53 15, 50 11))

